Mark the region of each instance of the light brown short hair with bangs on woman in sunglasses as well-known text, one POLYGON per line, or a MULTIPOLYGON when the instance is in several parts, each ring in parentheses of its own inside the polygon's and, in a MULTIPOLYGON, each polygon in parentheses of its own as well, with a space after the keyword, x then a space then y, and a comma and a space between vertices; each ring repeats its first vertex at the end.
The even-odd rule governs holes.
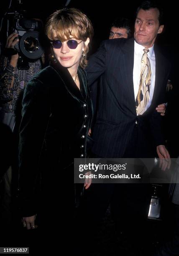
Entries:
MULTIPOLYGON (((75 8, 64 8, 52 13, 46 23, 46 35, 50 40, 59 39, 66 41, 70 36, 78 40, 86 41, 92 38, 93 27, 87 16, 75 8)), ((84 52, 87 54, 89 47, 84 44, 84 52)), ((79 65, 87 66, 87 55, 81 56, 79 65)))

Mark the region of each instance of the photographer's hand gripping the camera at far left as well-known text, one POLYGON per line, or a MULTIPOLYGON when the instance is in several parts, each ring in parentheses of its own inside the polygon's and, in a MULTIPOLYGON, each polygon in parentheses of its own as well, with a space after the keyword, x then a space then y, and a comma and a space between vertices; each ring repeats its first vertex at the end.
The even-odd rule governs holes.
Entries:
MULTIPOLYGON (((17 38, 18 34, 17 33, 12 33, 10 36, 8 36, 7 41, 6 41, 6 48, 14 48, 16 44, 18 44, 19 39, 17 38)), ((17 67, 18 64, 18 53, 15 55, 12 55, 10 58, 10 65, 13 67, 17 67)))

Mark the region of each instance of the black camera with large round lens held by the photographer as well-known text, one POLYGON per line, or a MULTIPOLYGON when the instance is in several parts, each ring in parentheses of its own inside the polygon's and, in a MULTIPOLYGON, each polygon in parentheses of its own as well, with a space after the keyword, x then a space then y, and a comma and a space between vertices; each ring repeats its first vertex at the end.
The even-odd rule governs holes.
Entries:
POLYGON ((11 17, 12 24, 8 26, 8 35, 17 33, 19 43, 15 46, 21 57, 26 57, 30 60, 39 59, 43 54, 41 46, 42 23, 36 19, 27 19, 22 13, 15 11, 11 17))

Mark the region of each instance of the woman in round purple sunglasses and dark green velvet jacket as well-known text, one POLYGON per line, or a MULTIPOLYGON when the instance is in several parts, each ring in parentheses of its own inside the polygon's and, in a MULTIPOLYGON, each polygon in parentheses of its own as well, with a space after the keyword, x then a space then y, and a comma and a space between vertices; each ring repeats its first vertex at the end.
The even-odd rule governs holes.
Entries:
POLYGON ((39 226, 55 223, 57 229, 62 208, 74 205, 67 190, 73 189, 74 158, 86 156, 92 119, 84 71, 93 35, 90 20, 74 8, 58 10, 47 21, 46 35, 51 64, 27 84, 20 125, 21 214, 27 229, 36 228, 36 214, 39 226))

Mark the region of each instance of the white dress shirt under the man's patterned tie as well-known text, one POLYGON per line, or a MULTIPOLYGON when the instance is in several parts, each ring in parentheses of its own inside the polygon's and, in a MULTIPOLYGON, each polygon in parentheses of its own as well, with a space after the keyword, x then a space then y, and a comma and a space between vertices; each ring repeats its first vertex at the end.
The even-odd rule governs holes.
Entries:
MULTIPOLYGON (((133 67, 133 84, 134 84, 134 95, 135 95, 135 101, 138 94, 138 88, 140 84, 140 74, 141 74, 141 59, 144 54, 144 49, 140 44, 137 44, 136 41, 134 41, 134 67, 133 67)), ((151 63, 151 85, 150 85, 150 94, 148 103, 146 105, 145 111, 150 107, 153 97, 153 91, 155 87, 155 77, 156 77, 156 58, 155 53, 153 50, 153 46, 151 48, 148 48, 149 52, 147 53, 148 59, 151 63)))

